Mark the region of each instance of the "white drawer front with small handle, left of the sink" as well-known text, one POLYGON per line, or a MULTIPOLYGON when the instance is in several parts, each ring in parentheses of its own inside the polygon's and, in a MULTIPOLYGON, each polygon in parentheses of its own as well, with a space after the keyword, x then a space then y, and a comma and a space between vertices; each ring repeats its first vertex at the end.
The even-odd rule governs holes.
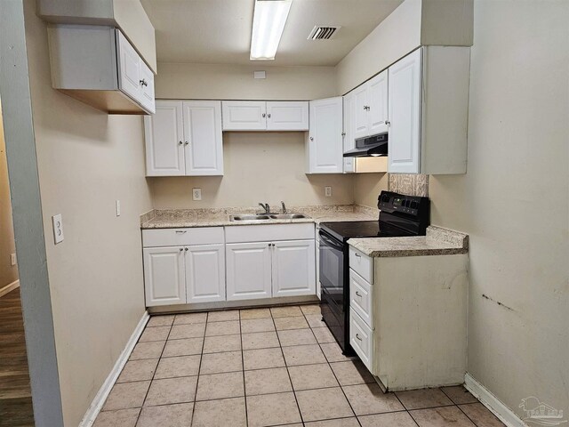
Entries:
POLYGON ((216 245, 224 243, 223 227, 142 230, 142 246, 216 245))

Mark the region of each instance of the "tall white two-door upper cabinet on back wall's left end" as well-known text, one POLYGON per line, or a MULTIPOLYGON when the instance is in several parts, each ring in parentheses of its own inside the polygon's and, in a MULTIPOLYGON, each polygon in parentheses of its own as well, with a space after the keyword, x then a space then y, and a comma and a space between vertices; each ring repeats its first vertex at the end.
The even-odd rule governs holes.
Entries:
POLYGON ((156 101, 144 133, 147 176, 223 175, 220 101, 156 101))

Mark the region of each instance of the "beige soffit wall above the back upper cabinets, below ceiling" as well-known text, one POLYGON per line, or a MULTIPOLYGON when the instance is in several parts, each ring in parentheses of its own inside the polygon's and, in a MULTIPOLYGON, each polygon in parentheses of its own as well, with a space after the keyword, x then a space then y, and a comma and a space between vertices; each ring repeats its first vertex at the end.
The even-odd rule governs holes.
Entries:
POLYGON ((333 67, 158 63, 156 98, 316 100, 334 96, 333 67), (252 73, 266 70, 267 78, 252 73))

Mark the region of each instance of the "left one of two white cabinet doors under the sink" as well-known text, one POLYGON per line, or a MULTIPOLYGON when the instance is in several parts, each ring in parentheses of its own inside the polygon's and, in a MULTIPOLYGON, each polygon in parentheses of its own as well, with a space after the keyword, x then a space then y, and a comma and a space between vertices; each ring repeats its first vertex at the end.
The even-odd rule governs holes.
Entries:
POLYGON ((228 301, 271 297, 270 249, 269 242, 225 246, 228 301))

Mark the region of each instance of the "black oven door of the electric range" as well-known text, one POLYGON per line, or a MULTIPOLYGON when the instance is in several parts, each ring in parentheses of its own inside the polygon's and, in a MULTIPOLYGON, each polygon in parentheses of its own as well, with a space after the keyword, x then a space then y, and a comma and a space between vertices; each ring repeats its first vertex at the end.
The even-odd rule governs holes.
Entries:
POLYGON ((344 311, 344 244, 325 230, 320 230, 320 283, 323 294, 331 299, 332 310, 340 316, 344 311))

